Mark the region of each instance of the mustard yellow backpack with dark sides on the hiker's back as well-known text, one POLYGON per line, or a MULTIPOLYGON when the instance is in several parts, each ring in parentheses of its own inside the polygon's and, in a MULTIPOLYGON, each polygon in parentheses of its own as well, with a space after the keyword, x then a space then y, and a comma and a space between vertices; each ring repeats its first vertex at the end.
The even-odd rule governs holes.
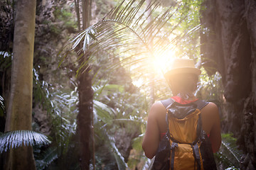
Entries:
POLYGON ((180 104, 169 98, 161 103, 166 107, 169 128, 159 143, 152 169, 216 169, 210 140, 201 123, 201 109, 208 102, 180 104))

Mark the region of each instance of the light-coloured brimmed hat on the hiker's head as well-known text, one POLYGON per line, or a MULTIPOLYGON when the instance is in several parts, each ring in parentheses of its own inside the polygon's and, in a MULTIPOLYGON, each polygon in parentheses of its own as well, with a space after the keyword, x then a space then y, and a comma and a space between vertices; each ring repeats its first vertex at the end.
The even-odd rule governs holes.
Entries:
POLYGON ((192 59, 175 59, 171 64, 171 69, 164 74, 164 77, 170 77, 175 74, 191 73, 200 75, 201 70, 195 67, 192 59))

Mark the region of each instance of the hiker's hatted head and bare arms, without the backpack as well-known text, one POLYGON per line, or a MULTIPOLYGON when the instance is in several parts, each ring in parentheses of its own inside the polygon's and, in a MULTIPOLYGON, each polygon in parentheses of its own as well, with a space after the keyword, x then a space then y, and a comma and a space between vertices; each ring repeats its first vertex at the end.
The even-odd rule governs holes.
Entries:
MULTIPOLYGON (((174 100, 178 103, 196 101, 193 92, 196 91, 198 83, 198 75, 201 70, 197 69, 193 60, 176 59, 171 66, 169 72, 165 74, 166 81, 171 87, 174 100)), ((213 152, 217 152, 220 148, 220 117, 218 107, 214 103, 208 103, 201 109, 202 128, 210 138, 213 152)), ((168 130, 166 123, 166 108, 158 101, 151 106, 147 120, 146 132, 142 143, 142 148, 146 157, 152 158, 156 154, 159 147, 161 135, 168 130)), ((171 129, 170 129, 171 132, 171 129)), ((183 131, 186 135, 186 130, 183 131)))

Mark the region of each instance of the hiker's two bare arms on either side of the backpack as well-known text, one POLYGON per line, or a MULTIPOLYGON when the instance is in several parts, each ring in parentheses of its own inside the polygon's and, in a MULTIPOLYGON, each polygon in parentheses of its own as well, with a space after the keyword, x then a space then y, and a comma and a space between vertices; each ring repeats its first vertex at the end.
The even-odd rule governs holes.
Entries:
MULTIPOLYGON (((208 103, 208 105, 201 110, 201 119, 203 130, 210 137, 213 152, 217 152, 221 143, 218 107, 214 103, 208 103)), ((146 130, 148 132, 145 134, 144 143, 142 145, 146 155, 146 140, 148 138, 151 139, 151 142, 148 143, 148 145, 151 145, 149 149, 149 157, 154 157, 156 149, 159 146, 159 141, 161 140, 161 135, 166 133, 167 128, 166 108, 161 103, 161 101, 158 101, 153 104, 151 111, 149 112, 148 125, 146 130)))

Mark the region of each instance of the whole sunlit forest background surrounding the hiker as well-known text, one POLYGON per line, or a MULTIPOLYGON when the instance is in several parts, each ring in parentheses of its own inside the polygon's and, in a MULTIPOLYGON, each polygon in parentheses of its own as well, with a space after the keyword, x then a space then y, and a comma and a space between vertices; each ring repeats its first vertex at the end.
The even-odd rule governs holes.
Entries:
MULTIPOLYGON (((253 167, 255 2, 21 2, 0 0, 0 148, 11 146, 6 132, 31 130, 23 139, 33 155, 32 147, 26 161, 14 153, 24 166, 148 169, 142 138, 149 108, 171 96, 164 73, 172 60, 191 58, 202 72, 196 96, 219 106, 228 133, 215 155, 219 168, 239 168, 240 159, 241 169, 253 167), (37 145, 40 133, 44 145, 37 145)), ((0 169, 7 156, 0 154, 0 169)))

